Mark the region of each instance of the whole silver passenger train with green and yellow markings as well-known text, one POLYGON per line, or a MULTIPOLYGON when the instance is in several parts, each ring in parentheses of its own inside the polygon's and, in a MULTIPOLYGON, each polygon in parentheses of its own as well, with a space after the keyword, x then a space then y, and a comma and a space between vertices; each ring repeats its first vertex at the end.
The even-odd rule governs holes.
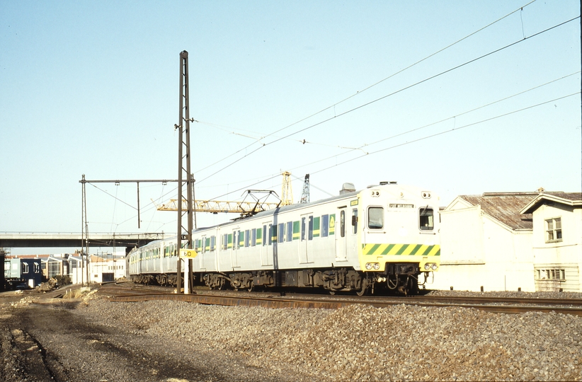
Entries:
MULTIPOLYGON (((418 291, 440 266, 438 197, 382 182, 340 195, 260 212, 193 232, 193 285, 213 289, 271 287, 418 291)), ((185 253, 186 251, 182 251, 185 253)), ((176 238, 134 248, 133 281, 176 285, 176 238)), ((191 251, 190 251, 191 253, 191 251)))

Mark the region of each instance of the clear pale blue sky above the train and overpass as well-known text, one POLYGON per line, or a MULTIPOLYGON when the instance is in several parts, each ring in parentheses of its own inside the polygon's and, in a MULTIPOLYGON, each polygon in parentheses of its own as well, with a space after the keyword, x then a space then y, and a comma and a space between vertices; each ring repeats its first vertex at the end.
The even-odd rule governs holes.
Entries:
MULTIPOLYGON (((176 179, 182 50, 197 199, 280 194, 285 170, 296 201, 306 173, 312 200, 381 180, 443 206, 580 191, 579 14, 574 0, 1 1, 0 231, 80 232, 83 174, 176 179)), ((176 231, 154 208, 173 184, 140 185, 139 229, 135 185, 95 186, 89 231, 176 231)))

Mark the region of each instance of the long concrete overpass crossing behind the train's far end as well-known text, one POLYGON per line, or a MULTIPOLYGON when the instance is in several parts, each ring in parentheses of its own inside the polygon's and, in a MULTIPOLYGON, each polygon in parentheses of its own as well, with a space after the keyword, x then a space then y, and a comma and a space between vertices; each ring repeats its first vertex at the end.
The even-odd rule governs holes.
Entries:
MULTIPOLYGON (((169 237, 171 235, 165 235, 169 237)), ((164 233, 89 233, 89 247, 125 247, 129 251, 154 240, 164 233)), ((0 248, 83 248, 81 233, 0 232, 0 248)))

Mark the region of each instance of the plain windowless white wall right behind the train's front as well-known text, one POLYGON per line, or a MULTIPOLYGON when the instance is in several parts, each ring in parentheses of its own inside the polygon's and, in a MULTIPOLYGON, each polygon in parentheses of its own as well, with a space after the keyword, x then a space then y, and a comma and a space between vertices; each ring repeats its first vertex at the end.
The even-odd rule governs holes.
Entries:
POLYGON ((440 219, 441 266, 428 289, 535 291, 532 231, 513 231, 461 199, 440 219))

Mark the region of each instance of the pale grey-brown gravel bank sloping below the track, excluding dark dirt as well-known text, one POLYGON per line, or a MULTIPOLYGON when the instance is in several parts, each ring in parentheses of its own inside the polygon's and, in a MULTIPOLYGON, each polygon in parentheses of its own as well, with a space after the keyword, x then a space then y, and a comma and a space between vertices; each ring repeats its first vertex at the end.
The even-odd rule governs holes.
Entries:
MULTIPOLYGON (((582 379, 582 318, 558 313, 404 305, 322 310, 117 303, 95 294, 71 312, 92 325, 125 332, 127 342, 159 344, 155 352, 144 349, 150 363, 167 354, 176 364, 224 365, 215 379, 186 378, 190 381, 582 379)), ((57 336, 51 341, 58 341, 57 336)), ((130 375, 131 369, 124 372, 130 375)), ((110 375, 108 380, 125 378, 110 375)))

